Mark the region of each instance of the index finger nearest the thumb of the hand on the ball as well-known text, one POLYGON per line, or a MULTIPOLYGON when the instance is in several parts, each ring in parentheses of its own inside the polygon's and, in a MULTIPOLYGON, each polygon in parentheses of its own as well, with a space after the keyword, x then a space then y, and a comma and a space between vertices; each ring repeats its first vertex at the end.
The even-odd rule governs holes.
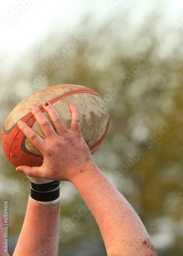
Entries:
POLYGON ((17 122, 20 131, 27 137, 35 147, 38 148, 39 151, 42 150, 44 139, 42 139, 36 132, 34 132, 31 127, 27 124, 19 120, 17 122))

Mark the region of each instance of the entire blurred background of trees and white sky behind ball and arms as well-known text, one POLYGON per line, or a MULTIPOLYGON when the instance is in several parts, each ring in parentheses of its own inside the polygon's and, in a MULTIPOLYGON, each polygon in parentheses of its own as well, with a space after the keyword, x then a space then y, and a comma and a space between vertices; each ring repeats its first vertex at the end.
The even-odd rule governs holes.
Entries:
MULTIPOLYGON (((111 123, 95 162, 138 212, 159 255, 182 255, 183 3, 11 0, 1 3, 0 29, 1 129, 17 103, 45 87, 97 91, 111 123)), ((12 255, 30 184, 0 154, 12 255)), ((106 255, 73 185, 62 182, 61 195, 59 255, 106 255)))

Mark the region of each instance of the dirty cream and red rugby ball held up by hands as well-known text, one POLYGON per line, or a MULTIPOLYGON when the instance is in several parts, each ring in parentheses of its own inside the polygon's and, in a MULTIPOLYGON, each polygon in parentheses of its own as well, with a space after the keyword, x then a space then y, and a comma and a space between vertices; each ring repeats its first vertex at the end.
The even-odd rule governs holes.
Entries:
POLYGON ((33 93, 16 105, 9 114, 2 130, 2 146, 8 160, 14 166, 42 165, 42 154, 19 130, 17 121, 26 122, 37 134, 44 138, 41 127, 30 112, 30 106, 36 104, 50 121, 47 112, 42 107, 43 101, 48 101, 54 105, 67 128, 71 121, 69 104, 74 102, 77 105, 82 134, 93 154, 108 131, 109 112, 107 105, 99 94, 87 87, 62 84, 33 93))

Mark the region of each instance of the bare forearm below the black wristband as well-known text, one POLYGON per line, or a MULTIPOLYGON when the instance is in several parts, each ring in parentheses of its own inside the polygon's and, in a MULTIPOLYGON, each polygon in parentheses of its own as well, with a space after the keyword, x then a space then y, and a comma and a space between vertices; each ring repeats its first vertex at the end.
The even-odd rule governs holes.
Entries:
POLYGON ((59 246, 60 202, 42 205, 28 201, 23 227, 13 256, 57 256, 59 246), (41 252, 42 251, 42 252, 41 252))

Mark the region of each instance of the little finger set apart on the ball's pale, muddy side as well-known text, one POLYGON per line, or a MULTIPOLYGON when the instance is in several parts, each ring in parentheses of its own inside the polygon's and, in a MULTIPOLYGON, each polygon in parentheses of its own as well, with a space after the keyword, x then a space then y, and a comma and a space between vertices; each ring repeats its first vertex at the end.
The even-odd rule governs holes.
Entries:
POLYGON ((76 133, 81 133, 80 114, 75 103, 70 103, 71 123, 69 129, 76 133))

